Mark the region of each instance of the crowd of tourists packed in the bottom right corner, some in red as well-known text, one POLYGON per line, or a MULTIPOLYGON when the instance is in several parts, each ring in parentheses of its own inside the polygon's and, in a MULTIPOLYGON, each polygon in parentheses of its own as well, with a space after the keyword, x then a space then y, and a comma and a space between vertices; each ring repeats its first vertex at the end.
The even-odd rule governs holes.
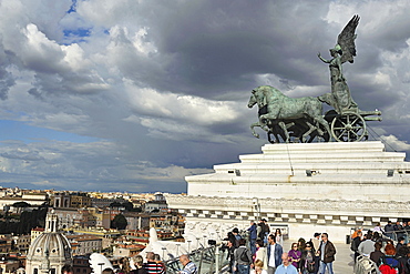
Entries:
POLYGON ((355 231, 350 244, 351 251, 355 252, 355 263, 358 264, 362 257, 368 257, 382 274, 410 274, 408 232, 410 232, 410 222, 401 224, 399 221, 396 224, 389 221, 385 230, 378 223, 373 230, 366 233, 360 230, 355 231))

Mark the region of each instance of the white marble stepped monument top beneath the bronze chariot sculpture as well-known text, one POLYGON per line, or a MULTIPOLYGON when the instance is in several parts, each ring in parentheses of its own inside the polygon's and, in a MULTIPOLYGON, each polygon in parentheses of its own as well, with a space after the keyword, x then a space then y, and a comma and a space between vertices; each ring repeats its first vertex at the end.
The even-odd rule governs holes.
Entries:
POLYGON ((353 227, 410 219, 410 163, 379 141, 266 144, 262 154, 187 176, 187 195, 167 195, 186 214, 186 233, 221 240, 266 219, 290 239, 328 232, 345 242, 353 227))

